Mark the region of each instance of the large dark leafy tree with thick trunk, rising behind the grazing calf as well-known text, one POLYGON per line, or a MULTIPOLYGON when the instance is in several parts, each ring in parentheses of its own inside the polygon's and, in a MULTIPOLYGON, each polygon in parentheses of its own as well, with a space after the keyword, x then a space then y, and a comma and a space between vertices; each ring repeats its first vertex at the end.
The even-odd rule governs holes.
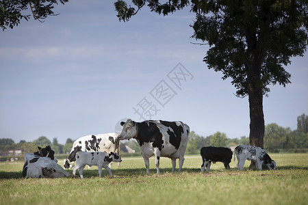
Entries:
POLYGON ((239 97, 248 96, 250 144, 264 147, 263 96, 268 85, 291 83, 283 66, 290 57, 303 56, 307 49, 308 18, 305 0, 133 0, 136 8, 118 0, 119 20, 129 20, 147 3, 152 12, 170 14, 191 3, 196 20, 196 40, 209 44, 203 59, 209 69, 231 78, 239 97))

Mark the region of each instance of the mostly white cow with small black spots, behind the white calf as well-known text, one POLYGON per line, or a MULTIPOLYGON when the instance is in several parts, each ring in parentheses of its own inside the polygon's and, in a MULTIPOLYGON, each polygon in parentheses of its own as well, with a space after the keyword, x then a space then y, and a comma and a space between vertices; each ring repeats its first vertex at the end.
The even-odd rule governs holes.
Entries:
MULTIPOLYGON (((83 152, 116 152, 120 155, 120 141, 116 133, 106 133, 99 135, 87 135, 80 137, 73 143, 68 159, 64 159, 64 168, 69 169, 74 166, 75 156, 79 151, 83 152)), ((118 163, 120 166, 120 163, 118 163)))

